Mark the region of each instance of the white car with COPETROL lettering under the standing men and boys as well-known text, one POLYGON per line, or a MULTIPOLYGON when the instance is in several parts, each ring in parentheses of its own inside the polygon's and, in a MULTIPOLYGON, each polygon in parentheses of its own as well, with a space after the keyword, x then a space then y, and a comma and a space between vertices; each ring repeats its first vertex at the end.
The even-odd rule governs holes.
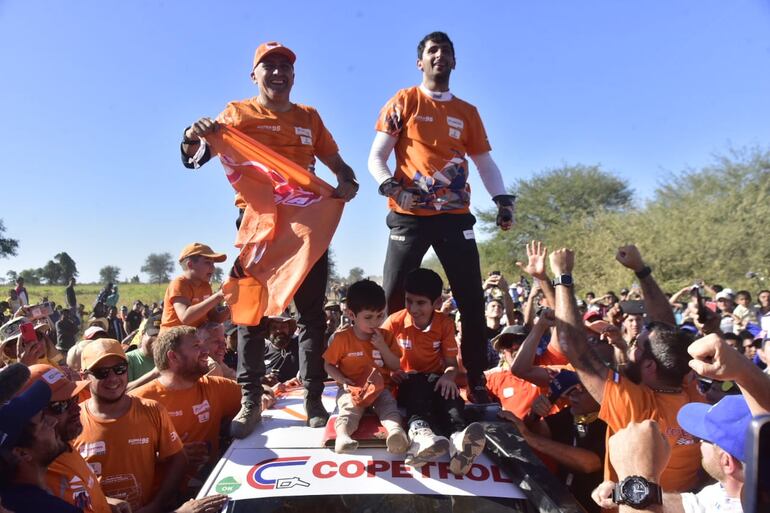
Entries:
MULTIPOLYGON (((376 418, 362 422, 354 435, 358 450, 336 454, 328 447, 332 427, 305 426, 302 394, 301 388, 290 390, 263 412, 255 432, 229 446, 199 497, 227 494, 227 512, 583 511, 510 424, 487 422, 485 454, 466 476, 456 477, 448 456, 416 469, 403 455, 388 453, 376 418)), ((328 384, 323 401, 329 411, 336 394, 336 385, 328 384)), ((489 408, 468 413, 495 418, 489 408)))

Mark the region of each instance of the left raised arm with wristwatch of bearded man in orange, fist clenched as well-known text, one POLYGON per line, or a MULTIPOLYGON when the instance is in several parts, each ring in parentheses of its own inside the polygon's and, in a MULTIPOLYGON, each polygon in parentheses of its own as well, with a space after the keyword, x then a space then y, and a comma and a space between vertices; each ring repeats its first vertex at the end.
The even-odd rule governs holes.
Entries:
MULTIPOLYGON (((575 253, 572 250, 562 248, 551 253, 551 270, 554 274, 572 276, 574 266, 575 253)), ((601 403, 608 369, 588 345, 572 286, 559 285, 555 289, 556 336, 561 350, 575 367, 586 390, 601 403)))

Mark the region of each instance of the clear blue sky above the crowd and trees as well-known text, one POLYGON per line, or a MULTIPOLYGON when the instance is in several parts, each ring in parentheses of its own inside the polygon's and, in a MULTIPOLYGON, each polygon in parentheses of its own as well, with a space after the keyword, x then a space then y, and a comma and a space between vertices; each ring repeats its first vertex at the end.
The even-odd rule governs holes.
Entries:
MULTIPOLYGON (((386 207, 366 169, 374 121, 419 82, 416 43, 433 30, 454 40, 451 88, 478 107, 508 184, 601 164, 642 202, 670 173, 770 141, 767 0, 5 0, 0 218, 20 250, 0 276, 60 251, 81 281, 105 265, 133 276, 149 253, 195 240, 234 256, 222 169, 184 169, 178 144, 198 117, 257 94, 251 59, 268 40, 297 53, 292 98, 319 110, 362 184, 333 242, 339 269, 381 274, 386 207)), ((473 204, 489 207, 471 183, 473 204)))

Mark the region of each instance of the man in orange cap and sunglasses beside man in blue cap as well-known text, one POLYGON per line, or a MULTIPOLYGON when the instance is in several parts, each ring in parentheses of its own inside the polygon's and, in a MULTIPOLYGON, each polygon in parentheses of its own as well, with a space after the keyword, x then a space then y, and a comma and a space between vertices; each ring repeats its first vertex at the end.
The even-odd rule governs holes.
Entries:
MULTIPOLYGON (((110 504, 102 492, 96 474, 70 444, 83 431, 78 394, 88 386, 88 381, 70 381, 50 365, 32 365, 29 370, 27 388, 41 380, 50 383, 51 401, 45 414, 56 420, 56 434, 67 444, 67 450, 48 466, 45 476, 48 489, 85 513, 109 513, 110 504)), ((119 499, 112 501, 115 511, 130 511, 128 503, 119 499)))

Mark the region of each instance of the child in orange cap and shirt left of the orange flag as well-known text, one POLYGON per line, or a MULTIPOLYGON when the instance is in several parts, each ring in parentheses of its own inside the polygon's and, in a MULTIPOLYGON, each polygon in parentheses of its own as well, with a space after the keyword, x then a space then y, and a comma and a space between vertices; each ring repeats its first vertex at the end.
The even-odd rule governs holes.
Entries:
POLYGON ((215 310, 224 299, 221 290, 211 291, 214 263, 224 262, 227 255, 214 253, 209 246, 194 242, 188 244, 179 255, 181 276, 168 284, 163 298, 161 333, 174 326, 198 327, 208 320, 222 322, 229 317, 227 309, 215 310))

